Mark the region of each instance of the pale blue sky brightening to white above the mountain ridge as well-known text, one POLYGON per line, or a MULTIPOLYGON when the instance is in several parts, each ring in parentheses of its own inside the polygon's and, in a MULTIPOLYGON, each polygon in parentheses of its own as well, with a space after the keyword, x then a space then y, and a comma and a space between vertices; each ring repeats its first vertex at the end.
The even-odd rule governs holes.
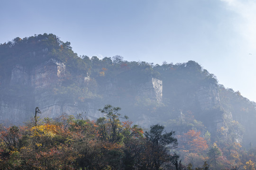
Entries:
POLYGON ((0 43, 52 33, 89 57, 198 62, 256 102, 256 0, 1 0, 0 43))

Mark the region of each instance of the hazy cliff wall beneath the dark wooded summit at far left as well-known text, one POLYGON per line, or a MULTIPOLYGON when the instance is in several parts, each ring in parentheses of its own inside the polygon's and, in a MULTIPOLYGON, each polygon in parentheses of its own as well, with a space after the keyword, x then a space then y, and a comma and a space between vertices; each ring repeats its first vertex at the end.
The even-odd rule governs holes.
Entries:
MULTIPOLYGON (((35 67, 25 67, 17 64, 11 69, 11 76, 4 77, 6 84, 4 87, 12 87, 14 90, 19 88, 15 92, 15 95, 19 96, 23 91, 29 91, 27 94, 22 94, 16 102, 12 102, 15 98, 4 96, 1 98, 2 106, 0 107, 0 114, 2 122, 19 124, 23 121, 29 120, 33 116, 33 110, 36 106, 43 106, 42 110, 46 107, 50 107, 56 103, 52 97, 50 89, 53 85, 60 85, 62 75, 65 71, 65 65, 57 62, 54 59, 50 59, 35 67), (26 90, 25 90, 26 89, 26 90), (40 104, 39 104, 40 103, 40 104), (8 114, 7 114, 8 113, 8 114)), ((59 111, 49 114, 50 109, 46 111, 46 114, 50 117, 55 117, 59 111)))

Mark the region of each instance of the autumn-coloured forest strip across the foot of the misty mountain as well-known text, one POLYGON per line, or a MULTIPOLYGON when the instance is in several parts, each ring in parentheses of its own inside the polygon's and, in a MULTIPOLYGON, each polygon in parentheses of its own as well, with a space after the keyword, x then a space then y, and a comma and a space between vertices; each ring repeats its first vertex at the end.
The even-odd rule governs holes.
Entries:
POLYGON ((143 130, 109 104, 97 121, 35 117, 1 127, 2 170, 255 170, 256 149, 238 143, 220 148, 190 130, 183 136, 161 125, 143 130), (183 156, 181 156, 183 155, 183 156), (189 163, 188 163, 189 162, 189 163), (194 163, 192 163, 194 162, 194 163), (201 167, 196 167, 201 162, 201 167), (188 163, 188 164, 187 164, 188 163))

